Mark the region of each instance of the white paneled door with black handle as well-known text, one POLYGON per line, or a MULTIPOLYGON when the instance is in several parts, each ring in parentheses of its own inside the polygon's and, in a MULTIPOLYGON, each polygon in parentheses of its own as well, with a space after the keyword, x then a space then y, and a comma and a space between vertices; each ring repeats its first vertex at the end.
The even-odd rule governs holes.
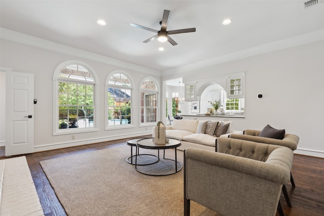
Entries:
POLYGON ((34 74, 6 73, 6 156, 34 147, 34 74))

